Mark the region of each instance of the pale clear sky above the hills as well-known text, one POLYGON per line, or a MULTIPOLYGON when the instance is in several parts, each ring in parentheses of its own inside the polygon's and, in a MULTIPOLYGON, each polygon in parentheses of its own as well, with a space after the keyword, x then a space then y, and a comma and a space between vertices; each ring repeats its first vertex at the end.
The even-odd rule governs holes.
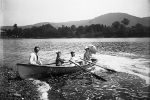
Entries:
POLYGON ((2 26, 93 19, 107 13, 150 16, 150 0, 0 0, 2 26))

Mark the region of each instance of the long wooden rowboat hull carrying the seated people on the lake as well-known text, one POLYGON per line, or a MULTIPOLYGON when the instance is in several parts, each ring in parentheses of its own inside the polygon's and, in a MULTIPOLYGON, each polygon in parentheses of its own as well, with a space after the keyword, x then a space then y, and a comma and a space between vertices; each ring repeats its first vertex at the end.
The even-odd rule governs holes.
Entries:
MULTIPOLYGON (((83 68, 88 68, 91 65, 81 65, 83 68)), ((25 63, 17 63, 17 71, 22 79, 39 79, 47 77, 48 75, 64 75, 81 71, 78 66, 56 66, 51 65, 31 65, 25 63)))

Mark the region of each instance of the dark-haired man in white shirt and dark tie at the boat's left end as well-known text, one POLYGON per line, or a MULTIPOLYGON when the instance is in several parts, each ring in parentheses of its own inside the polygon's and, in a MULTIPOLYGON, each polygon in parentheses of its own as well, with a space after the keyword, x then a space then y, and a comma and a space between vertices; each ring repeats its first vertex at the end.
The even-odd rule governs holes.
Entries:
POLYGON ((33 65, 42 65, 42 62, 39 60, 38 52, 40 50, 40 47, 36 46, 34 48, 34 52, 30 54, 29 63, 33 65))

